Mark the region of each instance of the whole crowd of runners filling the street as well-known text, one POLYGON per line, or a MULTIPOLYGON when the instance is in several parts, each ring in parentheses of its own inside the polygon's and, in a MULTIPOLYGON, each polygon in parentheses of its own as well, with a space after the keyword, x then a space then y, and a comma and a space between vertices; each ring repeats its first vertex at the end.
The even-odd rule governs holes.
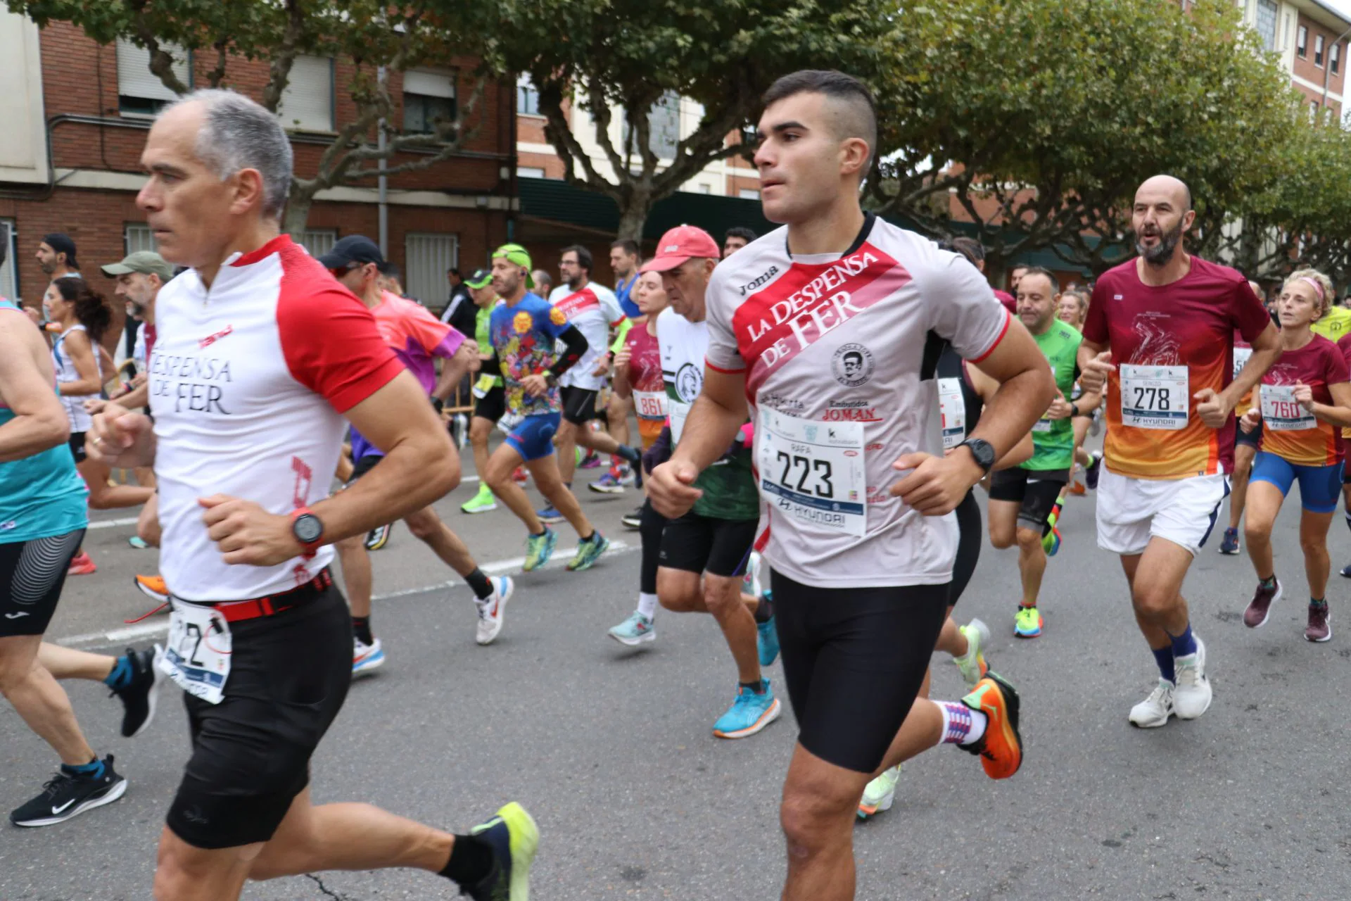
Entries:
POLYGON ((646 259, 617 240, 613 289, 571 246, 546 292, 530 250, 508 243, 455 273, 440 319, 400 296, 372 239, 315 259, 280 234, 290 145, 262 107, 200 91, 163 109, 136 199, 159 253, 101 267, 142 323, 127 378, 104 350, 109 301, 68 236, 39 247, 41 313, 0 301, 0 690, 61 759, 11 823, 58 824, 126 792, 61 679, 105 684, 124 736, 172 681, 192 751, 154 897, 420 867, 481 901, 524 901, 539 831, 520 804, 453 835, 315 805, 308 789, 353 677, 386 662, 370 554, 392 523, 470 588, 478 644, 504 628, 513 580, 486 575, 432 508, 461 482, 446 407, 462 384, 480 478, 465 515, 519 519, 524 571, 550 561, 566 521, 566 570, 588 570, 611 547, 574 492, 594 457, 588 490, 643 494, 623 520, 640 543, 636 605, 608 635, 639 647, 659 608, 709 613, 735 670, 717 738, 765 729, 786 694, 785 898, 854 897, 851 824, 892 806, 904 761, 955 744, 990 778, 1019 771, 1017 663, 1000 674, 985 652, 992 628, 1054 631, 1040 589, 1075 494, 1097 493, 1097 544, 1120 557, 1158 670, 1120 712, 1131 724, 1210 705, 1182 584, 1225 497, 1219 550, 1247 548, 1243 621, 1256 628, 1290 578, 1270 538, 1298 482, 1304 636, 1331 639, 1351 311, 1327 276, 1294 272, 1269 312, 1255 284, 1186 253, 1190 192, 1154 176, 1135 195, 1136 257, 1092 288, 1017 266, 996 292, 977 242, 936 244, 861 208, 877 146, 861 82, 798 72, 763 107, 754 162, 781 228, 720 244, 680 226, 646 259), (1086 450, 1102 430, 1102 451, 1086 450), (88 511, 119 507, 141 508, 135 540, 159 548, 158 573, 136 582, 163 604, 168 638, 120 657, 43 642, 68 575, 97 569, 81 551, 88 511), (993 547, 1017 547, 1020 598, 1008 623, 959 624, 986 528, 993 547), (935 650, 965 697, 929 698, 935 650), (775 686, 765 667, 780 659, 775 686))

